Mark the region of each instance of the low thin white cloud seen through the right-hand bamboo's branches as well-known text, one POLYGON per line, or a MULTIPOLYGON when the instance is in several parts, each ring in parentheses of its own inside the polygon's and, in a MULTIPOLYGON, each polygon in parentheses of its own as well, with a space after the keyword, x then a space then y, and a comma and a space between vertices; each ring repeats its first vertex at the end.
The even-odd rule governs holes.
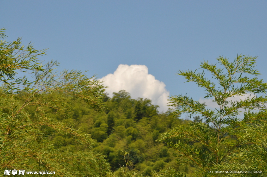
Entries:
MULTIPOLYGON (((250 98, 252 98, 252 97, 256 96, 256 94, 246 93, 244 95, 232 96, 232 97, 228 98, 227 100, 229 100, 229 101, 231 100, 231 101, 235 102, 235 101, 239 101, 239 100, 245 100, 245 99, 248 98, 248 96, 250 96, 250 98)), ((219 105, 216 102, 214 102, 213 99, 214 98, 212 98, 212 99, 210 99, 210 98, 209 99, 199 98, 198 101, 200 103, 204 103, 205 102, 206 105, 207 105, 207 107, 210 107, 210 108, 219 108, 219 105)))

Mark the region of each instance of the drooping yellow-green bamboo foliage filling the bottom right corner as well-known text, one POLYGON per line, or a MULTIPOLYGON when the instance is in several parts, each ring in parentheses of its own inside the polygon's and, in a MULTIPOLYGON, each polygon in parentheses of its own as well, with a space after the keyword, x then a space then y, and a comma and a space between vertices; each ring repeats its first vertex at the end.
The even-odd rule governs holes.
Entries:
POLYGON ((229 174, 229 176, 266 176, 267 170, 267 125, 245 124, 236 133, 238 138, 250 144, 239 148, 238 152, 232 154, 231 163, 218 164, 215 168, 235 168, 249 171, 255 169, 262 173, 255 174, 229 174), (231 166, 230 166, 231 164, 231 166))

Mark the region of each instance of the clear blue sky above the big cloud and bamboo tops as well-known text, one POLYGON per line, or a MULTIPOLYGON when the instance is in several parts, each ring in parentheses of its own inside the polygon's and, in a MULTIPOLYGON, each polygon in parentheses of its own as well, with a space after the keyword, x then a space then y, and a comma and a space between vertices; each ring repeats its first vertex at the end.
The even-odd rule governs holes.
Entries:
POLYGON ((267 80, 267 1, 2 1, 0 28, 23 37, 61 68, 102 78, 120 64, 145 65, 170 95, 205 96, 179 70, 219 55, 258 56, 267 80))

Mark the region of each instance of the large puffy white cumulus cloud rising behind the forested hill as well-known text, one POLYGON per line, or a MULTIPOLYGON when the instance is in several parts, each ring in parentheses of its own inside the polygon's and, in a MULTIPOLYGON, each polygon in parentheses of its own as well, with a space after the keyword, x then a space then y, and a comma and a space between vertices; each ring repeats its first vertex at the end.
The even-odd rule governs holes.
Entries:
POLYGON ((166 90, 165 84, 151 74, 145 65, 119 65, 113 74, 101 78, 104 85, 109 88, 106 92, 112 95, 113 92, 126 90, 132 98, 148 98, 152 104, 158 105, 159 111, 167 111, 167 99, 170 92, 166 90))

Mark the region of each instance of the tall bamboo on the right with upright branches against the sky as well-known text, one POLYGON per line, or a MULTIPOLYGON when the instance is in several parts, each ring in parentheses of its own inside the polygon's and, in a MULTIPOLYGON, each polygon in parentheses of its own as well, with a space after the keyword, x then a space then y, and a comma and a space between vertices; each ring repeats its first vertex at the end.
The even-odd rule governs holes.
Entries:
POLYGON ((187 82, 195 82, 206 91, 218 107, 211 109, 206 103, 195 101, 189 96, 172 96, 170 105, 176 106, 175 115, 199 114, 205 123, 183 124, 166 132, 161 141, 177 152, 179 164, 195 166, 196 176, 218 176, 212 170, 261 170, 260 174, 235 173, 229 176, 265 176, 266 172, 266 107, 267 84, 258 79, 254 69, 256 57, 238 55, 233 62, 219 57, 222 66, 201 63, 203 72, 179 71, 187 82), (204 70, 211 73, 205 78, 204 70), (256 77, 249 78, 249 75, 256 77), (238 96, 247 95, 244 100, 238 96), (241 117, 241 115, 243 116, 241 117), (172 139, 179 139, 173 142, 172 139))

